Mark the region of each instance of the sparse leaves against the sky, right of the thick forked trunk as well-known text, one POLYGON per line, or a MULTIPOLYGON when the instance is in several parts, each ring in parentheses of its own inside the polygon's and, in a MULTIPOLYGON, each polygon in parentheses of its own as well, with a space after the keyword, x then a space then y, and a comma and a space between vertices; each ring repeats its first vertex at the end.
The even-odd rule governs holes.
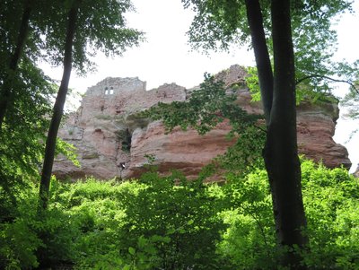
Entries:
POLYGON ((337 32, 331 27, 339 15, 351 12, 351 2, 293 2, 292 25, 297 88, 306 99, 328 98, 333 82, 353 83, 357 63, 333 62, 337 32), (324 95, 323 95, 324 93, 324 95))

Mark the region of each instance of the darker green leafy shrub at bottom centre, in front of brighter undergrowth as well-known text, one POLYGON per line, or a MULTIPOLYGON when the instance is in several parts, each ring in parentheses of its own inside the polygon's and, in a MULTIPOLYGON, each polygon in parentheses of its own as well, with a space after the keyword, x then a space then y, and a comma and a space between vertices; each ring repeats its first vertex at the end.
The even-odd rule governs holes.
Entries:
POLYGON ((141 200, 127 207, 127 236, 138 239, 143 235, 150 240, 159 236, 161 241, 155 247, 162 257, 158 265, 164 269, 215 266, 215 243, 224 228, 216 215, 221 200, 210 196, 200 182, 188 182, 179 174, 159 179, 151 172, 144 174, 141 182, 149 187, 140 191, 141 200))

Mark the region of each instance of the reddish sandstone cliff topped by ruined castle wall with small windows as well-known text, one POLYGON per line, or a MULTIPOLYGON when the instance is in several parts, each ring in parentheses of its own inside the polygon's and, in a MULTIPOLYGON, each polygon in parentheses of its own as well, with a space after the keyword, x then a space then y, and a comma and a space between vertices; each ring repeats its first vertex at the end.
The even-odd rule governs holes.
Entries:
MULTIPOLYGON (((217 74, 231 89, 233 84, 244 85, 245 71, 239 65, 217 74)), ((230 126, 219 124, 206 135, 197 135, 175 128, 165 135, 160 121, 139 118, 137 113, 159 101, 184 101, 191 91, 175 83, 164 84, 151 91, 138 78, 106 78, 90 87, 77 112, 66 119, 59 136, 77 148, 81 168, 76 168, 62 156, 57 157, 54 174, 57 178, 78 179, 94 176, 99 179, 113 177, 133 178, 145 171, 147 158, 162 173, 181 170, 189 178, 218 154, 233 144, 225 135, 230 126)), ((244 86, 236 90, 238 104, 249 113, 260 114, 258 103, 250 102, 250 92, 244 86)), ((337 104, 321 102, 303 103, 297 111, 299 151, 328 167, 349 167, 346 148, 336 144, 333 135, 338 118, 337 104)))

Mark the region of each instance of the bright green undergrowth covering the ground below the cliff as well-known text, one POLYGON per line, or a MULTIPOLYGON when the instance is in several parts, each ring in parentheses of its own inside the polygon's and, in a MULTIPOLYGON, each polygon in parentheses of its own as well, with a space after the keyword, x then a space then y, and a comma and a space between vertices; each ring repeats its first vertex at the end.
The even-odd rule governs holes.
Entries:
MULTIPOLYGON (((0 225, 0 266, 32 269, 274 269, 276 246, 267 173, 229 172, 204 185, 155 170, 127 182, 53 179, 48 211, 37 187, 19 192, 13 222, 0 225)), ((302 192, 315 269, 359 265, 359 183, 345 169, 302 161, 302 192)), ((303 252, 303 251, 301 251, 303 252)))

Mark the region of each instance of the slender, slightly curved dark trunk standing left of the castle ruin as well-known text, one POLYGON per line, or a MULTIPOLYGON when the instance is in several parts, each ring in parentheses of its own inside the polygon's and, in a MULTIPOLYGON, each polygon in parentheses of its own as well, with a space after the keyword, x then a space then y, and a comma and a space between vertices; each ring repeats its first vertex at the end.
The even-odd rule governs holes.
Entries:
POLYGON ((65 56, 64 56, 64 73, 60 87, 57 92, 51 123, 48 129, 48 138, 46 141, 44 164, 39 186, 40 206, 43 209, 48 207, 48 193, 52 173, 52 166, 55 158, 55 148, 57 142, 57 131, 60 126, 61 118, 64 112, 64 105, 68 90, 68 83, 72 70, 72 55, 74 43, 74 31, 76 24, 77 7, 72 7, 68 13, 68 24, 66 30, 65 56))

